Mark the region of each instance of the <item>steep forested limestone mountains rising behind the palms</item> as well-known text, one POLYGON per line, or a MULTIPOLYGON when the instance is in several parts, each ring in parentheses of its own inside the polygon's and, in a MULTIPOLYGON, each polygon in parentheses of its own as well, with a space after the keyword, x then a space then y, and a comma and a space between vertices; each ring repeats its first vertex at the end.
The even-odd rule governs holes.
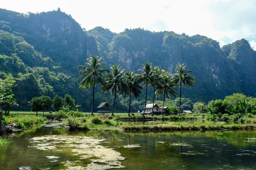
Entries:
MULTIPOLYGON (((29 15, 0 9, 0 78, 16 81, 17 109, 28 109, 27 101, 35 96, 69 94, 83 111, 90 111, 92 89, 78 87, 77 68, 91 54, 102 56, 108 69, 120 64, 135 72, 146 61, 171 74, 178 63, 185 63, 195 83, 183 88, 182 97, 193 102, 256 93, 256 52, 245 39, 220 48, 217 41, 201 35, 140 28, 118 34, 102 27, 85 31, 60 9, 29 15)), ((105 101, 112 103, 112 96, 97 88, 95 107, 105 101)))

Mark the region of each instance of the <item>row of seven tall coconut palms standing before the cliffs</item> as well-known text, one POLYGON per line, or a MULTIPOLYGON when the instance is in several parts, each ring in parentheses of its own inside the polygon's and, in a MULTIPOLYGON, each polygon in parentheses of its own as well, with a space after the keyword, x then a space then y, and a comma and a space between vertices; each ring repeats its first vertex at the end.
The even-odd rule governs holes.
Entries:
MULTIPOLYGON (((157 96, 163 94, 164 100, 165 97, 168 98, 170 95, 176 96, 177 92, 174 91, 173 88, 177 85, 179 85, 180 87, 181 99, 181 85, 183 84, 184 86, 193 86, 193 82, 195 82, 194 76, 189 75, 189 73, 192 71, 186 71, 186 66, 184 65, 184 63, 178 64, 176 67, 176 73, 174 75, 170 75, 170 73, 159 69, 159 67, 157 66, 153 67, 152 63, 147 61, 145 65, 142 65, 141 69, 138 69, 140 74, 136 74, 134 71, 126 71, 125 69, 122 69, 120 65, 116 64, 110 67, 111 70, 103 69, 102 66, 106 66, 106 63, 102 62, 102 59, 102 57, 92 55, 87 59, 87 63, 85 63, 84 66, 81 65, 78 67, 78 69, 80 70, 80 76, 78 79, 82 79, 79 84, 79 87, 93 87, 91 113, 92 115, 94 108, 94 89, 96 87, 96 84, 102 87, 103 92, 107 93, 110 91, 111 94, 114 95, 112 116, 114 116, 115 100, 117 93, 123 94, 125 96, 129 95, 128 115, 130 116, 131 94, 138 98, 139 95, 141 94, 141 90, 143 88, 146 88, 145 107, 143 112, 144 116, 147 102, 148 86, 154 87, 154 103, 155 94, 157 96)), ((180 105, 181 103, 179 103, 179 113, 180 105)))

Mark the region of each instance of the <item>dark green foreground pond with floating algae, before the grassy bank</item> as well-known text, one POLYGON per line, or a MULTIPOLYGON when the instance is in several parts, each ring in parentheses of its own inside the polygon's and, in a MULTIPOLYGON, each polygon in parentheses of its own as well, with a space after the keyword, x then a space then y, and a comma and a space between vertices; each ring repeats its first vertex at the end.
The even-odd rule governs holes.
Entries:
POLYGON ((33 126, 0 147, 0 169, 256 169, 256 131, 66 131, 33 126))

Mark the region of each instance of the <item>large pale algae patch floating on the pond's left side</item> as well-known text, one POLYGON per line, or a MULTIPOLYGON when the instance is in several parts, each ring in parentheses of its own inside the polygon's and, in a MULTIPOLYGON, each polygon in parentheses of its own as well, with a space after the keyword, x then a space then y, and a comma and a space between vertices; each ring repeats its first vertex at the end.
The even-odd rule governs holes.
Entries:
MULTIPOLYGON (((30 148, 55 150, 58 156, 46 156, 48 159, 54 159, 51 162, 56 162, 63 152, 63 155, 66 156, 66 160, 61 162, 63 169, 125 168, 120 162, 125 159, 121 153, 113 148, 100 145, 105 142, 104 140, 102 137, 95 136, 48 135, 31 138, 32 146, 30 148), (77 161, 77 159, 81 161, 77 161)), ((140 146, 134 145, 133 147, 140 146)))

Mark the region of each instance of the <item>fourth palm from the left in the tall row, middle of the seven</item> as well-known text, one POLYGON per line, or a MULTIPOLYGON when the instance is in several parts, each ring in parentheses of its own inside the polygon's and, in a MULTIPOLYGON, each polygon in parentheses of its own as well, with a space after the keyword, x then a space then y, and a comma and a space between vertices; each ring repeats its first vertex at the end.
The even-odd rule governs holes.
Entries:
POLYGON ((143 81, 142 82, 143 88, 146 87, 145 107, 143 112, 143 116, 144 116, 145 110, 146 110, 146 103, 147 103, 148 85, 154 82, 152 63, 147 61, 145 65, 142 65, 142 69, 138 69, 138 71, 141 72, 141 74, 139 75, 139 80, 143 81))

